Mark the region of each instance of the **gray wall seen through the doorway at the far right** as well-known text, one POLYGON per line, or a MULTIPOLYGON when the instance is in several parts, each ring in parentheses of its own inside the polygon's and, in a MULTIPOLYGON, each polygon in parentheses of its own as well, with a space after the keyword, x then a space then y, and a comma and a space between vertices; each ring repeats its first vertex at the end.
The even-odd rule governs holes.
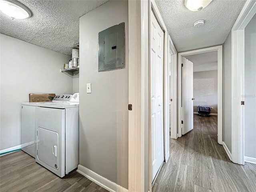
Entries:
POLYGON ((244 30, 244 156, 256 158, 256 14, 244 30))

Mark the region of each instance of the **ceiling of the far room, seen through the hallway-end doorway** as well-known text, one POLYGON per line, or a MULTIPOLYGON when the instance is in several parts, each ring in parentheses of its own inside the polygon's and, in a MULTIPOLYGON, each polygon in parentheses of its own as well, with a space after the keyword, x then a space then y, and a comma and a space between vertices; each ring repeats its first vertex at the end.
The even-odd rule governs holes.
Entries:
POLYGON ((218 51, 209 51, 185 56, 193 63, 193 71, 218 70, 218 51))

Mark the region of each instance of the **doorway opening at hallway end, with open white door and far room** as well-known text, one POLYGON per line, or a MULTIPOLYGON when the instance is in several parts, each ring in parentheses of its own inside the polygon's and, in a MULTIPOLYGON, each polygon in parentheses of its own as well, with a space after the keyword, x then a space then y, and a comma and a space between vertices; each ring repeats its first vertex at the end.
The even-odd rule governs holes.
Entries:
POLYGON ((182 61, 182 135, 196 126, 217 140, 218 52, 188 55, 182 61))

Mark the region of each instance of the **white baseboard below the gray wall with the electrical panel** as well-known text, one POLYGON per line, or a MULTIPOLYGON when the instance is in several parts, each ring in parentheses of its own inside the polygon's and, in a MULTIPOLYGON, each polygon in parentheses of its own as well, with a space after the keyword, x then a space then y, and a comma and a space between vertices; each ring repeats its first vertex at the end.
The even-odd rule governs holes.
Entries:
POLYGON ((108 180, 107 178, 100 176, 99 174, 93 172, 92 170, 80 164, 78 165, 78 170, 76 171, 82 174, 83 176, 87 177, 88 179, 92 180, 99 186, 102 186, 106 190, 109 190, 110 192, 128 192, 128 189, 108 180))

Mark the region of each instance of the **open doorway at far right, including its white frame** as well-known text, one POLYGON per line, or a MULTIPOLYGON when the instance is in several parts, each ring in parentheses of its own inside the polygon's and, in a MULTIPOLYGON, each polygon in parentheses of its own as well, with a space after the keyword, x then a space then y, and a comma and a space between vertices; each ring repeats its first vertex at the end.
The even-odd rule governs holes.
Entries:
MULTIPOLYGON (((242 165, 244 165, 245 161, 256 163, 256 156, 255 158, 250 157, 253 154, 256 154, 256 152, 249 152, 249 151, 248 153, 245 152, 246 148, 248 147, 248 146, 245 146, 245 144, 248 141, 253 141, 255 144, 255 138, 251 138, 251 136, 253 135, 255 136, 255 130, 254 130, 254 134, 249 133, 250 135, 248 135, 248 132, 247 132, 248 126, 246 126, 248 125, 248 122, 252 120, 251 118, 247 119, 248 118, 247 114, 249 114, 249 117, 250 115, 253 115, 250 112, 250 103, 252 104, 254 102, 255 104, 255 98, 253 102, 250 101, 251 97, 255 97, 255 95, 253 94, 253 90, 250 89, 253 87, 253 85, 255 85, 255 82, 251 82, 250 84, 248 84, 248 81, 250 81, 249 79, 255 77, 255 73, 254 75, 250 74, 255 72, 255 69, 253 68, 250 69, 251 61, 254 61, 254 66, 255 66, 255 43, 250 44, 253 41, 255 42, 255 32, 253 33, 252 31, 251 32, 248 31, 248 29, 250 28, 250 24, 252 25, 255 24, 255 20, 253 20, 255 19, 255 14, 256 14, 256 1, 254 0, 246 1, 246 3, 244 4, 244 8, 240 12, 232 28, 232 62, 231 62, 232 155, 231 155, 231 160, 234 163, 238 163, 242 165), (248 39, 248 41, 246 39, 248 39), (254 49, 254 52, 253 52, 253 49, 254 49), (252 51, 252 53, 249 53, 249 51, 250 52, 252 51), (246 100, 247 100, 247 103, 246 103, 246 100)), ((252 26, 252 29, 255 30, 255 25, 252 26)), ((254 111, 254 114, 255 114, 255 111, 254 111)), ((253 119, 255 119, 255 116, 253 119)), ((251 122, 251 123, 253 124, 254 122, 251 122)), ((252 125, 250 126, 255 127, 252 125)), ((250 148, 252 147, 250 146, 250 148)))

